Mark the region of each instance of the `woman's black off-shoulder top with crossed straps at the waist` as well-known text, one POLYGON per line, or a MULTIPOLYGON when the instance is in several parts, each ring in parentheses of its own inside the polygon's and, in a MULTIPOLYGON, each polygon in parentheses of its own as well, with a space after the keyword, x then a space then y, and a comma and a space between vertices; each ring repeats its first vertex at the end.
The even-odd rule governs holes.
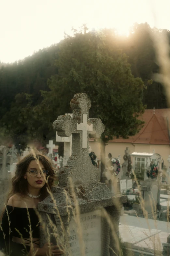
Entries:
MULTIPOLYGON (((32 237, 39 239, 39 219, 35 213, 34 208, 28 208, 32 237)), ((28 244, 30 241, 30 223, 26 208, 19 208, 7 205, 7 210, 5 210, 2 223, 0 227, 0 250, 5 253, 10 254, 10 256, 27 255, 30 246, 18 244, 12 241, 12 237, 16 236, 19 238, 28 239, 28 244), (7 215, 8 212, 8 215, 7 215), (9 216, 9 220, 8 220, 9 216), (10 225, 9 225, 10 221, 10 225), (19 232, 18 232, 18 231, 19 232), (9 235, 10 232, 10 235, 9 235), (22 236, 21 236, 21 235, 22 236), (5 235, 5 239, 4 239, 5 235), (9 251, 10 250, 10 251, 9 251)), ((35 242, 36 243, 36 242, 35 242)))

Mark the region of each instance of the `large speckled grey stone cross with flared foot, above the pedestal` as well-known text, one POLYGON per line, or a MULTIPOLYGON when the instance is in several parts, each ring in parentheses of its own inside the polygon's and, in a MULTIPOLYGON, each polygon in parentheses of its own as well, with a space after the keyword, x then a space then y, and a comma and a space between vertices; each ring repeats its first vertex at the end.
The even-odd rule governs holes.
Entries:
POLYGON ((89 134, 99 138, 104 131, 100 118, 89 119, 91 102, 87 94, 75 94, 70 102, 73 118, 70 115, 59 116, 53 128, 61 137, 72 135, 72 155, 60 170, 59 184, 68 184, 69 177, 75 184, 98 181, 97 168, 89 157, 89 134))

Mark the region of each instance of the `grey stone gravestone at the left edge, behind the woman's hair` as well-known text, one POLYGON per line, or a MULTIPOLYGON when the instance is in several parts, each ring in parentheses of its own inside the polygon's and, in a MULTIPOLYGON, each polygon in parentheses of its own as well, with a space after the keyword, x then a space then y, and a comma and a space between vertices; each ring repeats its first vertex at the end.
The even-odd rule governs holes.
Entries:
POLYGON ((7 156, 7 147, 0 146, 0 214, 6 203, 6 196, 10 189, 10 173, 7 171, 7 164, 12 164, 12 158, 7 156))

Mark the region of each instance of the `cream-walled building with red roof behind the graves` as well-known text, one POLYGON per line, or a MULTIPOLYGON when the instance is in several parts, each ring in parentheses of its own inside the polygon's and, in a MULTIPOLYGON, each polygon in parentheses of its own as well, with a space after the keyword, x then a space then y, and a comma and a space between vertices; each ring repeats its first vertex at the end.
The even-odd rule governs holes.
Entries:
MULTIPOLYGON (((170 155, 170 109, 147 109, 140 117, 145 122, 143 128, 135 136, 128 139, 113 139, 106 145, 106 156, 121 156, 123 162, 124 151, 129 147, 133 152, 157 153, 162 156, 164 164, 168 166, 167 158, 170 155)), ((89 146, 100 159, 100 144, 93 139, 89 140, 89 146)))

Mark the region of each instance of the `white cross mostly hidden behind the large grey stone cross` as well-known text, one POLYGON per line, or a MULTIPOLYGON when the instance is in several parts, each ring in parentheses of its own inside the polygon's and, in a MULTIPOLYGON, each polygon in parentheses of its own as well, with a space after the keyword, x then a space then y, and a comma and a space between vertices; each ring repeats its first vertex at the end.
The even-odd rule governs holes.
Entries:
MULTIPOLYGON (((72 113, 65 113, 65 115, 70 115, 73 117, 72 113)), ((72 148, 72 135, 70 137, 59 136, 56 132, 56 142, 64 142, 64 157, 63 157, 63 166, 67 163, 68 158, 71 156, 72 148)))

